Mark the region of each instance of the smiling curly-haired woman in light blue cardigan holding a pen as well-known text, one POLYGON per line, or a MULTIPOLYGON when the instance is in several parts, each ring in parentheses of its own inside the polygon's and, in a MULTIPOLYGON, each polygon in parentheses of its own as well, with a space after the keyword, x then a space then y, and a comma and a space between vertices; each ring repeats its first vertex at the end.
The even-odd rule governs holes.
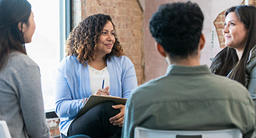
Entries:
POLYGON ((77 117, 90 95, 128 98, 137 87, 134 65, 124 56, 111 17, 94 14, 80 22, 69 35, 66 55, 55 79, 55 112, 62 137, 120 137, 123 105, 107 101, 77 117))

